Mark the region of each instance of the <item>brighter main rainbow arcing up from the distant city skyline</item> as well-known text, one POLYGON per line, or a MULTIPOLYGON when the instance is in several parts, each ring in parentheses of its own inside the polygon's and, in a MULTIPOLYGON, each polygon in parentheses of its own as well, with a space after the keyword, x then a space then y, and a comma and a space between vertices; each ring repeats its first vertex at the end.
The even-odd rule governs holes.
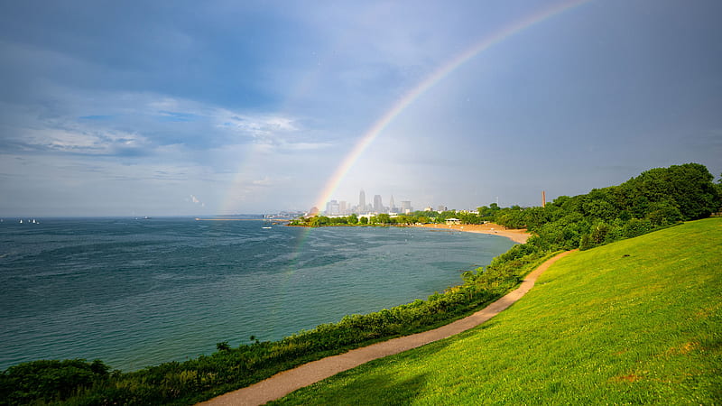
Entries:
POLYGON ((449 62, 442 65, 439 69, 436 69, 433 73, 430 74, 429 77, 422 80, 421 83, 419 83, 415 88, 412 88, 411 90, 409 90, 409 92, 403 95, 403 97, 401 97, 390 110, 388 110, 384 115, 382 115, 374 123, 374 125, 372 125, 371 128, 368 129, 366 134, 364 134, 364 136, 362 136, 361 139, 356 143, 353 150, 348 153, 346 158, 338 166, 338 169, 334 172, 333 176, 329 179, 326 186, 321 191, 319 198, 316 199, 315 206, 322 210, 326 202, 330 200, 336 189, 338 189, 338 185, 341 183, 341 180, 346 177, 348 171, 351 169, 351 167, 354 166, 356 161, 358 161, 358 158, 361 156, 361 154, 363 154, 366 151, 366 148, 368 148, 368 146, 374 142, 378 135, 384 131, 384 128, 386 128, 386 126, 388 126, 394 118, 400 115, 403 110, 405 110, 408 106, 411 106, 417 98, 421 97, 421 95, 423 95, 426 91, 428 91, 434 85, 438 84, 443 78, 449 76, 451 72, 458 69, 458 67, 466 63, 468 60, 471 60, 479 53, 486 51, 495 44, 503 42, 507 38, 517 33, 523 32, 524 30, 532 27, 533 25, 542 23, 543 21, 548 20, 555 15, 569 11, 572 8, 583 5, 590 1, 591 0, 573 0, 563 2, 557 5, 551 5, 551 7, 542 10, 542 12, 540 13, 532 14, 516 23, 506 26, 505 28, 497 32, 493 32, 491 35, 488 35, 481 41, 475 43, 467 51, 461 52, 454 59, 449 60, 449 62))

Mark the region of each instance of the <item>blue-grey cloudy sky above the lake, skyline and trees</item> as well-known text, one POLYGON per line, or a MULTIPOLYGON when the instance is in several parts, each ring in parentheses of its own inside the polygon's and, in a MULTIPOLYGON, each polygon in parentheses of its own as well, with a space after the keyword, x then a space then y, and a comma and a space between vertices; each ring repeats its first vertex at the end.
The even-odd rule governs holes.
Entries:
POLYGON ((308 210, 359 189, 532 206, 690 161, 717 178, 720 15, 718 0, 2 2, 0 216, 308 210))

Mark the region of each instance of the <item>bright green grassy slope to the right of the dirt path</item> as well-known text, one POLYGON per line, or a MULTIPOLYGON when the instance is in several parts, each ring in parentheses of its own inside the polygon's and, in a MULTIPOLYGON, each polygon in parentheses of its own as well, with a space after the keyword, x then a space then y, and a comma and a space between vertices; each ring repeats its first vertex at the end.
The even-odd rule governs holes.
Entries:
POLYGON ((484 326, 280 402, 719 404, 721 388, 722 218, 710 218, 571 254, 484 326))

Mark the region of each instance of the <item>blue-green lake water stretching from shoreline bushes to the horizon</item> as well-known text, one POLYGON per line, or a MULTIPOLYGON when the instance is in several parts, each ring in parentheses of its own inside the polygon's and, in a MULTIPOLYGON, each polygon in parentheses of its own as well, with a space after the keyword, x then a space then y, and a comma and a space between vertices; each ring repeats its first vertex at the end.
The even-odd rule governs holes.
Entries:
POLYGON ((134 370, 426 299, 513 243, 417 228, 191 218, 0 223, 0 370, 100 358, 134 370))

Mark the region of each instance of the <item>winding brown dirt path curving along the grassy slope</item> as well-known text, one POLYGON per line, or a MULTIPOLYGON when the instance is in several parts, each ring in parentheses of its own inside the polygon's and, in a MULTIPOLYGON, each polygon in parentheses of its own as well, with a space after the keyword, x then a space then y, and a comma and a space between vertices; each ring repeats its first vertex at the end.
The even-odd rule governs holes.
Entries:
POLYGON ((260 405, 268 401, 280 399, 283 396, 311 383, 317 383, 323 379, 329 378, 340 372, 347 371, 360 364, 366 364, 377 358, 388 355, 399 354, 403 351, 424 346, 440 339, 454 336, 458 333, 466 331, 469 328, 477 327, 489 318, 493 318, 502 310, 508 308, 516 300, 519 300, 527 291, 532 289, 534 282, 542 272, 555 263, 557 260, 571 253, 567 251, 557 254, 545 261, 537 269, 529 273, 524 279, 521 286, 515 291, 511 291, 503 298, 496 300, 485 309, 461 318, 446 326, 436 328, 423 333, 414 334, 412 336, 393 338, 383 343, 377 343, 372 346, 356 348, 340 355, 333 355, 318 361, 303 364, 292 370, 275 374, 272 377, 255 383, 251 386, 239 389, 234 392, 228 392, 224 395, 213 398, 210 401, 199 403, 201 405, 260 405))

